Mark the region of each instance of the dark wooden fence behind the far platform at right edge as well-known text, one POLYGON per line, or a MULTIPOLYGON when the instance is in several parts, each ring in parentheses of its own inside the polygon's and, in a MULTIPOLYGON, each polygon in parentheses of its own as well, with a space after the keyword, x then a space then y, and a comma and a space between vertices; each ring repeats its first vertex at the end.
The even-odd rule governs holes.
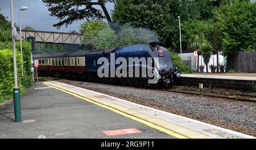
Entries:
POLYGON ((226 70, 233 69, 236 72, 256 73, 256 51, 239 52, 229 55, 226 62, 226 70))

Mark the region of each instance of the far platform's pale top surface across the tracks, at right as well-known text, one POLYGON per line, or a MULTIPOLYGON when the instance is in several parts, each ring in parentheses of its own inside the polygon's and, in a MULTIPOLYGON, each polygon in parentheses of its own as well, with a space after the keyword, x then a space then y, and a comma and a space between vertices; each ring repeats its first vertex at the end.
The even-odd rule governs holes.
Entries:
POLYGON ((181 77, 256 81, 256 73, 190 73, 181 77))

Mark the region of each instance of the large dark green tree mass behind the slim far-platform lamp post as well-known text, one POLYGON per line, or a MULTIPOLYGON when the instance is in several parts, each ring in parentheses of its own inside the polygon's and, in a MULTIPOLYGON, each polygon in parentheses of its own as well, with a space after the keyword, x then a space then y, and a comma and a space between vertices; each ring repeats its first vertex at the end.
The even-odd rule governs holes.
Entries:
MULTIPOLYGON (((130 23, 133 27, 148 27, 159 36, 160 43, 172 49, 179 48, 179 21, 181 26, 188 19, 197 22, 213 18, 212 10, 226 0, 117 0, 112 18, 116 22, 130 23)), ((191 21, 192 22, 192 21, 191 21)), ((189 24, 187 27, 189 28, 189 24)), ((181 32, 185 29, 181 27, 181 32)), ((191 38, 182 34, 183 47, 191 38)), ((193 35, 192 35, 193 36, 193 35)))

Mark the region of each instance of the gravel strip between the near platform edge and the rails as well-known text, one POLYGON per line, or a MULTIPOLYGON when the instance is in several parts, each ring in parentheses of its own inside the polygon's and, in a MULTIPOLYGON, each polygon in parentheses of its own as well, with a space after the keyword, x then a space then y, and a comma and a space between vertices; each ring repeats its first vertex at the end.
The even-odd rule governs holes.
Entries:
POLYGON ((256 136, 255 102, 232 101, 230 99, 89 82, 81 84, 79 81, 70 80, 59 80, 59 82, 99 91, 127 101, 256 136))

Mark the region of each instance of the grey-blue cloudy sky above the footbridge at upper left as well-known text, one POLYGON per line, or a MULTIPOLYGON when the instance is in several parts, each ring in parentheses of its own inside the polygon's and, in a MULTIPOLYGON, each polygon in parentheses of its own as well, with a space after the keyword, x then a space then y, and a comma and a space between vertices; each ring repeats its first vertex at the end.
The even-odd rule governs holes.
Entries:
MULTIPOLYGON (((59 32, 69 32, 69 31, 79 31, 79 26, 85 20, 78 20, 77 22, 73 22, 67 28, 62 26, 60 30, 57 30, 52 24, 59 22, 59 20, 53 16, 50 16, 50 12, 48 11, 45 3, 40 0, 13 0, 14 2, 14 22, 16 24, 19 23, 19 10, 20 6, 27 6, 27 11, 22 11, 22 28, 26 26, 31 26, 35 30, 40 31, 59 31, 59 32)), ((3 14, 8 17, 10 20, 10 0, 0 0, 1 11, 0 14, 3 14)), ((101 9, 99 6, 95 6, 98 9, 101 9)), ((113 3, 106 3, 106 8, 111 15, 114 9, 113 3)))

